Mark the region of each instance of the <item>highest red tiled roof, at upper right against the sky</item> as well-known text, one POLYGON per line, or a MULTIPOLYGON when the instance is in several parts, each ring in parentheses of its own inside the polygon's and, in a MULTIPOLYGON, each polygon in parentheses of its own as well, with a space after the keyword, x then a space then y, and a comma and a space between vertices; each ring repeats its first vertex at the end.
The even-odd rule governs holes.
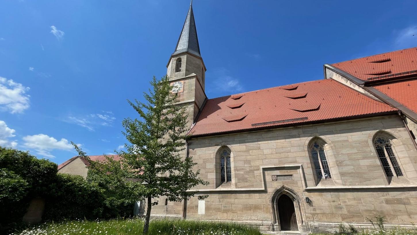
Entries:
POLYGON ((364 81, 417 74, 417 47, 334 63, 332 66, 364 81))

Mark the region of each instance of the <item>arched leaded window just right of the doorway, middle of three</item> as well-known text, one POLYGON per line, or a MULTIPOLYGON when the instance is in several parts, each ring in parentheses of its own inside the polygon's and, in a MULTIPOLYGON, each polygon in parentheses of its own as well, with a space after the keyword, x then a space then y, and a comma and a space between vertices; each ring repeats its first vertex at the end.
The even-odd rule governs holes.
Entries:
POLYGON ((322 178, 332 178, 330 175, 329 164, 327 163, 324 145, 318 141, 314 141, 310 145, 311 158, 313 159, 314 169, 316 170, 317 180, 322 178))

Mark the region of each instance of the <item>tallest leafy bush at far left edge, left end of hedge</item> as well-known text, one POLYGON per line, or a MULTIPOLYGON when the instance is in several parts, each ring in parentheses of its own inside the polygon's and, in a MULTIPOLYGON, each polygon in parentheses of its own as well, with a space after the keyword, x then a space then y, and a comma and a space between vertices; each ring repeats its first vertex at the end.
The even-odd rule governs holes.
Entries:
POLYGON ((30 199, 48 195, 57 164, 0 147, 0 233, 22 221, 30 199))

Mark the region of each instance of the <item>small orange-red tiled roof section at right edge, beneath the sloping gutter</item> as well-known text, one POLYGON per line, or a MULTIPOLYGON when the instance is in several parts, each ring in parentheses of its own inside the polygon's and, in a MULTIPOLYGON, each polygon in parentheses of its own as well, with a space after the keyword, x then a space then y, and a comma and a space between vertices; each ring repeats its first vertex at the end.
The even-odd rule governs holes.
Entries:
POLYGON ((417 79, 374 86, 382 93, 417 113, 417 79))

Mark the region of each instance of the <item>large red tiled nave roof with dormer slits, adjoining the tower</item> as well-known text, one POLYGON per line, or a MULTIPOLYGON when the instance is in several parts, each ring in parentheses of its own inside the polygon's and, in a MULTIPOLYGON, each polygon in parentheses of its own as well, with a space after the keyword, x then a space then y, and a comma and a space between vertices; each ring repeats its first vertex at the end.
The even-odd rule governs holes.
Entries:
POLYGON ((249 130, 395 110, 337 81, 325 79, 208 99, 190 133, 249 130), (300 93, 307 95, 288 98, 300 93), (237 96, 241 98, 234 100, 237 96), (229 105, 233 102, 244 104, 231 109, 229 105))

